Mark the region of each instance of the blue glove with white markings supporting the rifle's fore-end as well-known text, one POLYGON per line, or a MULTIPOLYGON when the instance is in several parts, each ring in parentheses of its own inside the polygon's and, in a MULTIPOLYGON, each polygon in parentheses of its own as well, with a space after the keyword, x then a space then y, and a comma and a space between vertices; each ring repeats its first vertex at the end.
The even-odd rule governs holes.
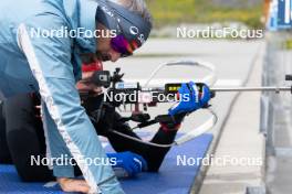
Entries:
POLYGON ((201 94, 199 94, 198 87, 194 82, 182 84, 178 93, 180 96, 179 103, 168 110, 170 116, 187 114, 202 108, 211 98, 211 93, 207 85, 202 85, 201 94))

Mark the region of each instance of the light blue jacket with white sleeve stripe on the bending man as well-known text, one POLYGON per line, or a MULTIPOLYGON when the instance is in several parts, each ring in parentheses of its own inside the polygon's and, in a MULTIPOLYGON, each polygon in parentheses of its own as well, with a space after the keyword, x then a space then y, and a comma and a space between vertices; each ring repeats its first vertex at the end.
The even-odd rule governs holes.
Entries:
MULTIPOLYGON (((98 4, 90 0, 9 0, 0 3, 0 96, 39 91, 51 157, 72 154, 92 193, 123 193, 111 166, 87 165, 106 158, 81 106, 75 80, 80 54, 95 52, 94 37, 45 35, 67 30, 95 30, 98 4), (35 32, 44 32, 42 36, 35 32)), ((55 176, 73 176, 70 165, 53 166, 55 176)))

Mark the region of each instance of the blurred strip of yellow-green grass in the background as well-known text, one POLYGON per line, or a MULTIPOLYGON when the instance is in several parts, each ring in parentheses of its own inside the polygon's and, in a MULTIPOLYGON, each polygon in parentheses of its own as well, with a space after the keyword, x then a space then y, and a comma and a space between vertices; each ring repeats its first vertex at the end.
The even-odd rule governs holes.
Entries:
POLYGON ((208 0, 146 0, 155 26, 177 23, 210 23, 240 21, 260 29, 262 4, 252 8, 215 7, 208 0))

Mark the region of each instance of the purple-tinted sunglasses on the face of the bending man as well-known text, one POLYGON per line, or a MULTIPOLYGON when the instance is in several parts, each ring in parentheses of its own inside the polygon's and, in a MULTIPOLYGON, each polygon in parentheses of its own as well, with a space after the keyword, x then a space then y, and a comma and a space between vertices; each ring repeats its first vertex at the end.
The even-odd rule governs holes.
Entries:
POLYGON ((133 52, 138 47, 135 41, 129 43, 123 35, 113 37, 111 46, 115 52, 121 53, 121 57, 133 55, 133 52))

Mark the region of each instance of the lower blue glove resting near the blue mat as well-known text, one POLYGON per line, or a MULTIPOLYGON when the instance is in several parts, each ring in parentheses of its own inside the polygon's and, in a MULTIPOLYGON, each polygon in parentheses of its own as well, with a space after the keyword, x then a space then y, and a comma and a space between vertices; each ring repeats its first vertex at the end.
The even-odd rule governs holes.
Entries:
POLYGON ((112 166, 115 169, 123 169, 128 176, 134 176, 142 171, 147 170, 147 162, 138 154, 126 151, 118 153, 107 153, 109 159, 115 159, 116 162, 112 166))

